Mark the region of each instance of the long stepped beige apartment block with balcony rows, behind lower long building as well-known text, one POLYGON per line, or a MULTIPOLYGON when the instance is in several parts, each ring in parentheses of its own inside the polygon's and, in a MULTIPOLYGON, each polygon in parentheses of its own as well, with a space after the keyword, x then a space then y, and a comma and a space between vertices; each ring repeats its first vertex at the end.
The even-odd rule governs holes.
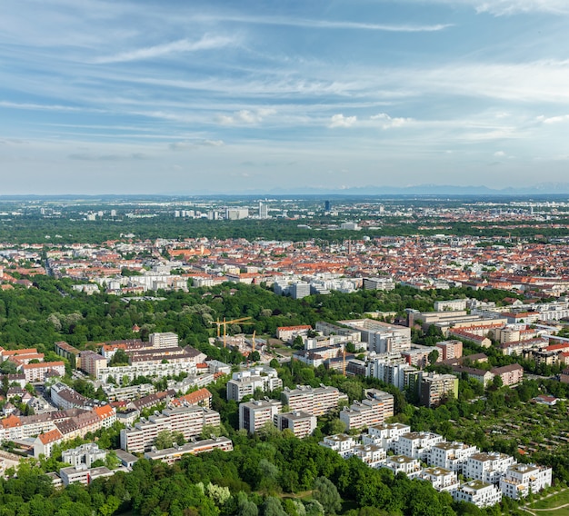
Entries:
POLYGON ((121 430, 121 448, 126 452, 150 451, 158 433, 182 432, 185 441, 197 437, 205 426, 219 426, 219 413, 205 407, 180 407, 141 419, 134 427, 121 430))

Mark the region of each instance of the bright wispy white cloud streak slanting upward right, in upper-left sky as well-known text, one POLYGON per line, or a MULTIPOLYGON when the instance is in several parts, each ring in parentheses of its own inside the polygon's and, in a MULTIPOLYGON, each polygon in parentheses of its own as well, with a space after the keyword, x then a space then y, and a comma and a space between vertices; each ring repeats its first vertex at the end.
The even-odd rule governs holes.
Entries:
POLYGON ((199 50, 212 50, 215 48, 223 48, 228 45, 235 45, 235 38, 219 35, 204 35, 198 41, 189 41, 187 39, 179 39, 171 43, 163 45, 148 46, 122 52, 116 55, 108 55, 95 59, 95 65, 105 65, 108 63, 125 63, 128 61, 139 61, 141 59, 153 59, 170 54, 179 54, 181 52, 197 52, 199 50))

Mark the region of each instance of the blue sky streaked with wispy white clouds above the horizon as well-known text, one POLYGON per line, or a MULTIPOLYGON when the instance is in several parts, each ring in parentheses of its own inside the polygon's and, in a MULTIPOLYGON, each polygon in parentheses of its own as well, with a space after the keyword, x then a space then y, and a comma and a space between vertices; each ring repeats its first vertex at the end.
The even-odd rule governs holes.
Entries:
POLYGON ((0 194, 569 181, 567 0, 4 0, 0 194))

